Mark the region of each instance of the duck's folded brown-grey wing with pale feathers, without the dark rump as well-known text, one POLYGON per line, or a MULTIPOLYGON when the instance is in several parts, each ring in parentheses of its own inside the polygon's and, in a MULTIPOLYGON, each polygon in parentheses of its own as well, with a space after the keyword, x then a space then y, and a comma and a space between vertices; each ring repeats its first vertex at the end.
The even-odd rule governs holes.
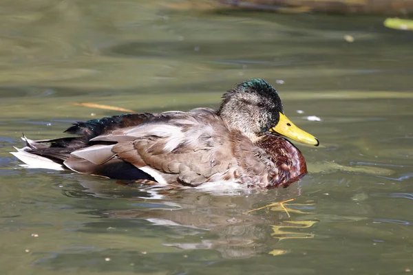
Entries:
MULTIPOLYGON (((120 158, 142 170, 156 170, 168 181, 193 186, 236 164, 229 130, 209 110, 165 113, 138 126, 107 131, 90 142, 97 144, 74 151, 72 157, 97 165, 120 158)), ((70 162, 65 165, 70 167, 70 162)))

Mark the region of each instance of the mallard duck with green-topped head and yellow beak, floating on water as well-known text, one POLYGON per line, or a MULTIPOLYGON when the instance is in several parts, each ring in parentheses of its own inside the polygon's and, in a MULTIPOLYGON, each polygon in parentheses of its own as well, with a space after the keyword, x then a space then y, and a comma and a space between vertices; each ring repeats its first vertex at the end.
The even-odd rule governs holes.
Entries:
POLYGON ((227 91, 218 110, 128 113, 76 122, 65 133, 76 136, 23 136, 26 146, 12 154, 25 166, 148 184, 273 188, 307 173, 301 152, 280 135, 319 145, 288 120, 277 91, 260 78, 227 91))

